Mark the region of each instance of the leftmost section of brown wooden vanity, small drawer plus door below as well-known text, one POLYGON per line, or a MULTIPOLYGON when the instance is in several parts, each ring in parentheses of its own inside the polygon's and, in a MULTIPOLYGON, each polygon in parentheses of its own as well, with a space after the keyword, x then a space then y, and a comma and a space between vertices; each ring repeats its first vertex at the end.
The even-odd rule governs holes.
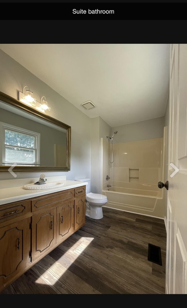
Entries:
POLYGON ((30 266, 31 202, 0 205, 0 291, 30 266))

